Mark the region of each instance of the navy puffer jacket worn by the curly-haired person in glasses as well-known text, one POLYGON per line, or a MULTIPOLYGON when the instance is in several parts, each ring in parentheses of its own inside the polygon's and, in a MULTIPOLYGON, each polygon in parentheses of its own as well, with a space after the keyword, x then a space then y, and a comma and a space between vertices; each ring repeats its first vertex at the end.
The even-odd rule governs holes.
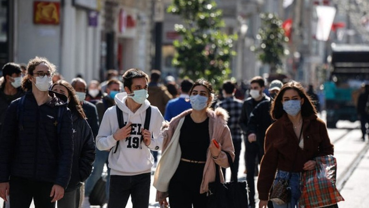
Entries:
POLYGON ((73 156, 72 117, 64 95, 52 91, 49 95, 52 99, 38 106, 28 91, 23 116, 18 108, 21 98, 8 107, 0 138, 0 182, 17 176, 67 187, 73 156), (59 135, 58 108, 64 108, 59 135))

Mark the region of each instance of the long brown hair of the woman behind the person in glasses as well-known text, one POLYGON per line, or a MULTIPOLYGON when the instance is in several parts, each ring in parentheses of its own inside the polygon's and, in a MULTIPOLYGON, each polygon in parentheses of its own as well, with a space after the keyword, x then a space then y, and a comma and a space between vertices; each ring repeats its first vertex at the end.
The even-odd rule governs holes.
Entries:
POLYGON ((76 113, 80 118, 86 118, 86 114, 83 111, 82 105, 77 99, 76 91, 73 89, 72 85, 70 85, 65 80, 58 80, 51 85, 51 90, 52 88, 54 88, 55 85, 58 84, 64 86, 68 90, 69 94, 68 108, 70 109, 70 111, 72 111, 72 113, 76 113))

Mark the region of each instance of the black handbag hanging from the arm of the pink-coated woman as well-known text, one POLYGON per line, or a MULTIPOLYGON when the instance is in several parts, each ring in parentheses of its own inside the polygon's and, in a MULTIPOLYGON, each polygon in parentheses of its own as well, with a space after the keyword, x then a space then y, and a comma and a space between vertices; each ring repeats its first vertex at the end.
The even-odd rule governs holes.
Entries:
POLYGON ((231 174, 234 181, 222 184, 220 182, 220 168, 215 164, 215 182, 209 183, 208 191, 208 208, 246 208, 247 203, 247 183, 246 181, 238 181, 236 171, 233 165, 231 155, 227 154, 228 162, 231 167, 231 174))

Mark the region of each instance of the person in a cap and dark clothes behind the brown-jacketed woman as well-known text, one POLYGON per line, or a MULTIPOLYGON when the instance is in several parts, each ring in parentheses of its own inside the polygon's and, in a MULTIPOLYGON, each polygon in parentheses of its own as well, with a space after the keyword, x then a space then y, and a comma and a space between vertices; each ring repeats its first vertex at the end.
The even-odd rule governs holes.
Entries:
MULTIPOLYGON (((268 129, 269 125, 272 124, 272 117, 270 117, 270 105, 273 102, 274 98, 278 94, 280 88, 282 88, 283 83, 279 80, 273 80, 269 86, 269 94, 271 100, 265 100, 256 105, 254 110, 252 110, 250 114, 250 118, 247 125, 246 137, 247 141, 250 143, 248 148, 249 151, 246 157, 246 164, 248 170, 255 169, 255 158, 259 158, 259 164, 261 162, 261 158, 264 155, 264 138, 265 132, 268 129)), ((246 177, 252 177, 252 180, 248 180, 248 185, 255 188, 254 184, 254 174, 247 174, 246 177), (250 182, 252 184, 250 184, 250 182)), ((268 207, 273 207, 272 203, 268 204, 268 207)))

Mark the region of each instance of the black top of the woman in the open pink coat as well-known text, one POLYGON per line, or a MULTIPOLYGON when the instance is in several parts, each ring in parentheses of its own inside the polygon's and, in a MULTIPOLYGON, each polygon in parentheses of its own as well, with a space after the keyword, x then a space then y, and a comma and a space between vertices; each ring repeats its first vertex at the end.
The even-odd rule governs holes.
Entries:
POLYGON ((201 123, 195 123, 190 115, 184 118, 179 136, 181 157, 187 160, 206 161, 210 144, 209 118, 201 123))

